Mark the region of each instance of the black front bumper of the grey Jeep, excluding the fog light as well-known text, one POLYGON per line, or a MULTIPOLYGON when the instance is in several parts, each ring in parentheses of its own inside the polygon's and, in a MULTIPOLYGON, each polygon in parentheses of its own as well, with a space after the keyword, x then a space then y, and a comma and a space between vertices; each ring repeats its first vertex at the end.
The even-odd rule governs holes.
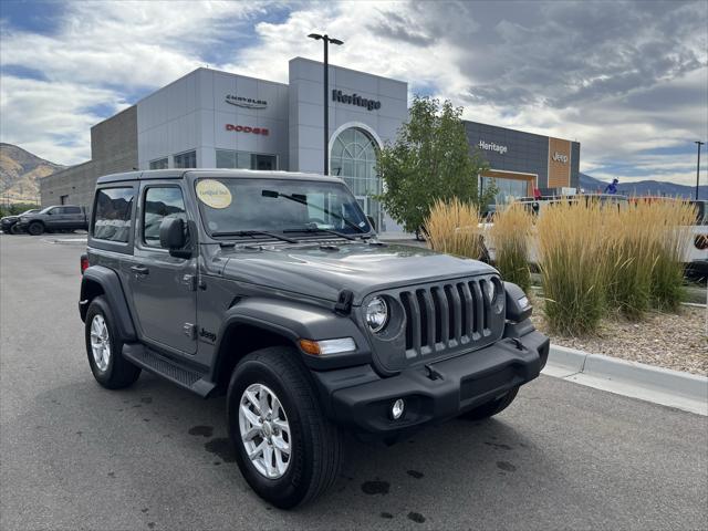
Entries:
POLYGON ((545 335, 530 332, 392 377, 379 377, 368 365, 313 375, 335 423, 393 437, 458 416, 530 382, 545 365, 549 345, 545 335), (398 398, 406 408, 393 420, 389 409, 398 398))

